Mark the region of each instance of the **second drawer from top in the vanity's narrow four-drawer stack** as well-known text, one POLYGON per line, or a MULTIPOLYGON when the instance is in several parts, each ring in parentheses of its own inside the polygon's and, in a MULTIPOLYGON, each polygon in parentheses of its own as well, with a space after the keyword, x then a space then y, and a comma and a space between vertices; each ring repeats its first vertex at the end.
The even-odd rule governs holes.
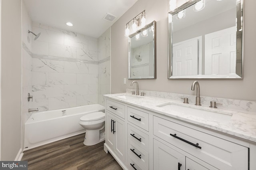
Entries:
POLYGON ((138 130, 137 128, 132 127, 128 124, 128 140, 133 141, 138 146, 148 151, 148 134, 138 130))

